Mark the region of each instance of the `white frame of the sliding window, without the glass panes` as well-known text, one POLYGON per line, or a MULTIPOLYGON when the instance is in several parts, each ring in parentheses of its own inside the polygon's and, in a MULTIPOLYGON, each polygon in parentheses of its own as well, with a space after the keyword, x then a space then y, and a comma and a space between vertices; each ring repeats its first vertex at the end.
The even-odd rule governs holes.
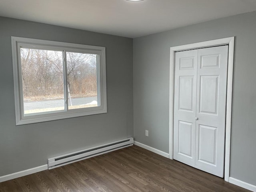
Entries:
MULTIPOLYGON (((93 114, 102 114, 107 112, 107 95, 106 95, 106 48, 100 46, 90 46, 83 44, 74 44, 66 42, 56 42, 49 40, 39 40, 22 37, 11 37, 12 39, 12 65, 13 65, 13 78, 14 78, 14 99, 15 99, 15 116, 16 125, 30 124, 37 122, 45 122, 80 116, 87 116, 93 114), (98 104, 96 107, 79 108, 66 110, 68 107, 68 93, 64 91, 66 95, 65 110, 54 112, 41 112, 34 114, 26 114, 24 116, 23 106, 23 89, 22 89, 22 73, 21 73, 21 60, 20 60, 20 48, 44 48, 46 50, 58 50, 58 51, 70 51, 70 52, 83 52, 88 54, 98 55, 98 67, 97 67, 97 87, 98 87, 98 104)), ((65 60, 65 58, 64 58, 65 60)), ((65 61, 64 61, 65 62, 65 61)), ((64 65, 66 66, 66 65, 64 65)), ((64 67, 64 83, 67 86, 67 72, 64 67)), ((67 88, 65 89, 67 90, 67 88)))

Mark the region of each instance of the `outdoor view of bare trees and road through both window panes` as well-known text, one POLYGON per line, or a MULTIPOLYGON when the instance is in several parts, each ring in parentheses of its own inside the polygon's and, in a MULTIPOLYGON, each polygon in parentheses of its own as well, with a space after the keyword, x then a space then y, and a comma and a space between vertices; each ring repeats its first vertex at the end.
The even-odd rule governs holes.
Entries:
MULTIPOLYGON (((69 109, 98 106, 96 54, 66 53, 69 109)), ((24 114, 64 110, 62 51, 20 48, 24 114)))

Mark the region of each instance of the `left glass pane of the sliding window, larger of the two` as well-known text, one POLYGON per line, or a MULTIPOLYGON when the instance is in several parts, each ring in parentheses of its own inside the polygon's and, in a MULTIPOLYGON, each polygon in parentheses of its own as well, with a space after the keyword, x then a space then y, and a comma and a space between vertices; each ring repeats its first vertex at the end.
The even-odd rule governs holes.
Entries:
POLYGON ((24 115, 64 110, 62 51, 20 48, 24 115))

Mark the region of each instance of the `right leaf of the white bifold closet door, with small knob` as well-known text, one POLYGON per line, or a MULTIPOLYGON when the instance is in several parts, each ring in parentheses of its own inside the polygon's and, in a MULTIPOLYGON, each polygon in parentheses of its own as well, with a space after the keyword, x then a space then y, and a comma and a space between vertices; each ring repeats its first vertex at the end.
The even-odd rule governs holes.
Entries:
POLYGON ((198 49, 195 167, 223 177, 228 46, 198 49))

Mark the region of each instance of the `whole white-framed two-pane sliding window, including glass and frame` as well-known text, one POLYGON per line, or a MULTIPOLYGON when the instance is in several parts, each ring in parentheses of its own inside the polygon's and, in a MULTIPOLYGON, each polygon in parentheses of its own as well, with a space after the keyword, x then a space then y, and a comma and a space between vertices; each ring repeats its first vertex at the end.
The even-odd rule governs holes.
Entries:
POLYGON ((106 113, 105 48, 12 37, 16 125, 106 113))

